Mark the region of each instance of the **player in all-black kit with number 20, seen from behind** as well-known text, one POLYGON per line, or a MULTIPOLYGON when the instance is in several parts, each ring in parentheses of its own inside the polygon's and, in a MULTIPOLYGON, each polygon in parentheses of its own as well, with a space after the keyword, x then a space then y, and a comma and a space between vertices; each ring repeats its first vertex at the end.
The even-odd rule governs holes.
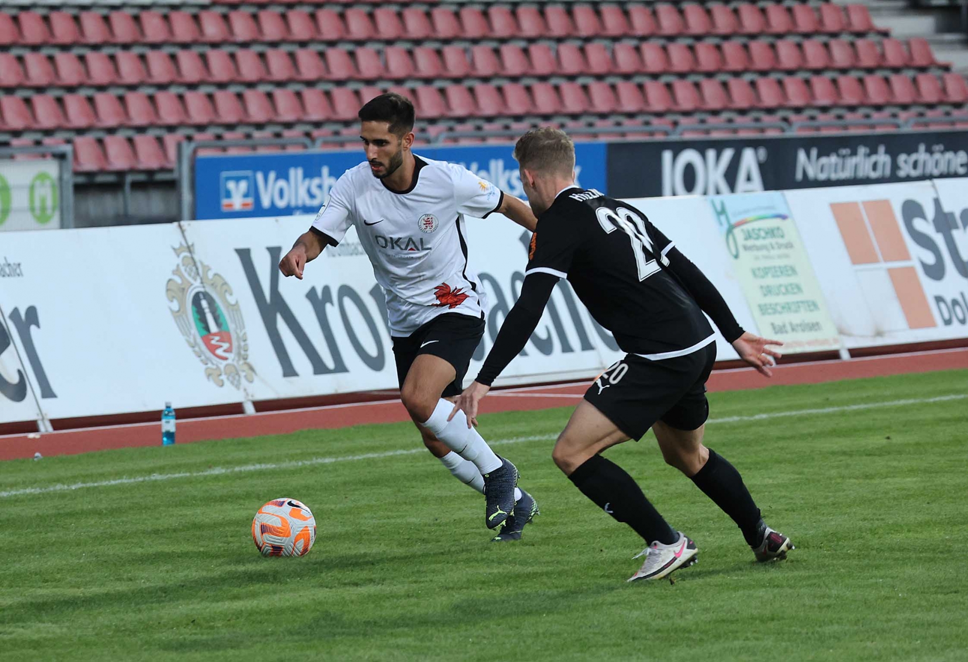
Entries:
POLYGON ((695 562, 696 544, 670 527, 628 473, 600 453, 651 428, 666 463, 692 479, 740 527, 757 560, 784 558, 790 539, 764 524, 740 472, 703 445, 706 380, 716 349, 711 316, 741 358, 771 376, 768 345, 744 332, 703 273, 645 214, 574 185, 575 150, 558 129, 534 129, 514 157, 537 229, 521 296, 500 327, 477 379, 454 412, 476 422, 491 383, 528 342, 552 290, 566 278, 626 353, 591 384, 552 458, 582 494, 641 535, 645 562, 629 581, 659 579, 695 562))

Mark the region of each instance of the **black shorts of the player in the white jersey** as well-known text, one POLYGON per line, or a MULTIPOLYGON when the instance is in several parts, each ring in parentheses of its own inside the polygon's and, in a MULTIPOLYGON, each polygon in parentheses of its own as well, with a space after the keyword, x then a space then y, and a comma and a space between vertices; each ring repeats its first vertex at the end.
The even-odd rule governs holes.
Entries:
POLYGON ((406 337, 391 337, 397 359, 397 379, 403 388, 410 366, 420 354, 433 354, 449 363, 457 377, 440 394, 442 398, 461 395, 470 357, 484 336, 484 316, 444 313, 431 319, 406 337))

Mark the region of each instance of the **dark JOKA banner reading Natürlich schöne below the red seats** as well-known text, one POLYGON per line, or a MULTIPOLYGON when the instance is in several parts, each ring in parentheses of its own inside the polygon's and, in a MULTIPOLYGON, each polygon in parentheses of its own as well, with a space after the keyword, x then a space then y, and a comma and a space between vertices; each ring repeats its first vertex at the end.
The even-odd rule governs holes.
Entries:
POLYGON ((608 147, 610 196, 717 196, 968 176, 968 132, 651 140, 608 147))

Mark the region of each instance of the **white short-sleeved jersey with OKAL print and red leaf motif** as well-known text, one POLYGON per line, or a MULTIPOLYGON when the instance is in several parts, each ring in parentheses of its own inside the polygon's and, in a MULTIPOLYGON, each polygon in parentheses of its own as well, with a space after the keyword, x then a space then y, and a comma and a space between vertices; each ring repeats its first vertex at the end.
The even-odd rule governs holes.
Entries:
POLYGON ((463 165, 421 159, 407 191, 387 189, 364 162, 343 173, 313 228, 339 244, 356 226, 386 293, 393 336, 408 336, 444 313, 480 317, 487 307, 468 269, 465 216, 498 209, 500 190, 463 165))

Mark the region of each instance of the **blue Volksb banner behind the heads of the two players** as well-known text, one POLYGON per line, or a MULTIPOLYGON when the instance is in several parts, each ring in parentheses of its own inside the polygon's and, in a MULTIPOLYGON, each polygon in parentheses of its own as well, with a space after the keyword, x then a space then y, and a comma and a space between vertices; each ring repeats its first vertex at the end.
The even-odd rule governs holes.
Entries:
MULTIPOLYGON (((513 145, 418 148, 428 159, 464 165, 512 196, 525 197, 513 145)), ((365 161, 362 150, 200 156, 195 161, 195 218, 316 214, 336 180, 365 161)), ((575 145, 575 171, 587 188, 608 193, 605 144, 575 145)))

